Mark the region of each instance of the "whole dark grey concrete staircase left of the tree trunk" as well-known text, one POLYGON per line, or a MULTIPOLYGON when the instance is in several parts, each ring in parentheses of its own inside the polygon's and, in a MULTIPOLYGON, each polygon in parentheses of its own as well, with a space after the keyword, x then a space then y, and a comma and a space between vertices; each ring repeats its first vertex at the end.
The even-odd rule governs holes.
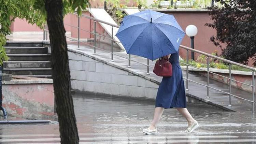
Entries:
POLYGON ((9 60, 4 62, 4 73, 51 78, 51 54, 42 43, 9 42, 4 47, 9 56, 9 60))

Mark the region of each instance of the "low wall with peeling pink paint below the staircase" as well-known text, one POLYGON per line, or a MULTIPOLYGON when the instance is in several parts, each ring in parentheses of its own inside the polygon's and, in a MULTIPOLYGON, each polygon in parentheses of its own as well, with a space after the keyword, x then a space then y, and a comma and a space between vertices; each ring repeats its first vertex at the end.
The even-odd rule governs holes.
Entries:
POLYGON ((2 81, 3 107, 9 116, 45 119, 54 116, 51 79, 2 81))

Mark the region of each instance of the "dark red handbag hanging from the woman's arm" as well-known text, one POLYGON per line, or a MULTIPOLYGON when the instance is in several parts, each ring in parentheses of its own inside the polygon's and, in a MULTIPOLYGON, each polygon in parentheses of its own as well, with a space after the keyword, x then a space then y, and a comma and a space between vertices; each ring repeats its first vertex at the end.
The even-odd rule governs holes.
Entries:
POLYGON ((161 57, 156 61, 153 72, 158 76, 172 76, 172 64, 168 57, 161 57))

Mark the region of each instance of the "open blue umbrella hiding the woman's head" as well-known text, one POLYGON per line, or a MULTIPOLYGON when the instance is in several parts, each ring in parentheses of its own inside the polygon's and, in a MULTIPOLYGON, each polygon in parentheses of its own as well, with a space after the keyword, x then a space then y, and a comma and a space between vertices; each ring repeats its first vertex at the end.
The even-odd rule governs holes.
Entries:
POLYGON ((184 35, 173 15, 152 10, 125 16, 116 33, 127 54, 150 60, 177 53, 184 35))

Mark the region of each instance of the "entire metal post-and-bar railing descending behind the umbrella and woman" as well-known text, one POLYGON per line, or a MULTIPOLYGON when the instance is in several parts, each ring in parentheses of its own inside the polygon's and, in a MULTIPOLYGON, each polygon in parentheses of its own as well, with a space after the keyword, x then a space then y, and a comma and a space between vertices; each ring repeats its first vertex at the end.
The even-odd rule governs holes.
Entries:
MULTIPOLYGON (((77 13, 74 13, 74 14, 77 15, 77 13)), ((88 46, 94 48, 94 54, 96 54, 96 49, 100 49, 101 51, 110 53, 110 54, 111 54, 111 60, 112 60, 112 61, 114 61, 114 55, 115 55, 115 56, 118 56, 118 57, 121 57, 121 58, 124 58, 124 59, 128 59, 128 66, 127 66, 128 68, 131 68, 131 61, 136 62, 136 63, 139 63, 139 64, 142 64, 142 65, 144 65, 144 66, 147 67, 147 72, 146 72, 146 74, 150 74, 150 73, 149 73, 149 68, 154 68, 154 67, 150 66, 150 64, 149 64, 149 59, 147 59, 147 64, 144 64, 144 63, 141 63, 141 62, 139 62, 139 61, 132 60, 130 54, 129 54, 129 58, 126 58, 126 57, 123 57, 123 56, 121 56, 121 55, 118 55, 118 54, 115 54, 115 53, 114 53, 114 51, 113 51, 113 49, 114 49, 114 48, 113 48, 113 43, 121 43, 120 41, 116 41, 116 40, 114 40, 114 38, 113 38, 113 27, 119 28, 118 25, 113 25, 113 24, 108 23, 108 22, 106 22, 106 21, 103 21, 103 20, 100 20, 100 19, 97 19, 97 18, 94 18, 94 17, 90 17, 90 16, 87 16, 87 15, 83 15, 83 14, 82 14, 81 16, 77 16, 77 22, 78 22, 78 23, 77 23, 77 26, 72 26, 72 25, 69 25, 69 24, 65 24, 65 25, 67 25, 67 26, 70 26, 70 27, 73 27, 73 28, 77 28, 77 40, 74 39, 74 38, 71 38, 71 37, 67 37, 67 36, 66 36, 68 39, 71 39, 71 40, 74 40, 74 41, 77 42, 77 49, 80 49, 80 43, 83 43, 83 44, 85 44, 85 45, 88 45, 88 46), (85 29, 82 29, 82 28, 80 27, 80 17, 84 17, 84 18, 88 18, 88 19, 90 19, 90 20, 94 20, 94 31, 93 31, 93 32, 88 31, 88 30, 85 30, 85 29), (105 37, 105 36, 103 36, 103 35, 97 34, 97 32, 96 32, 96 24, 97 24, 97 23, 103 23, 103 24, 106 24, 106 25, 109 25, 109 26, 112 27, 111 38, 108 38, 108 37, 105 37), (85 31, 85 32, 89 32, 89 33, 91 33, 91 34, 94 35, 94 45, 90 45, 90 44, 85 43, 85 42, 83 42, 83 41, 80 40, 80 30, 85 31), (111 52, 109 52, 109 51, 107 51, 107 50, 105 50, 105 49, 102 49, 102 48, 100 48, 100 47, 97 47, 97 46, 96 46, 96 42, 97 42, 97 41, 96 41, 96 37, 102 37, 102 38, 104 38, 104 39, 111 40, 111 52)), ((47 29, 47 25, 45 26, 43 33, 44 33, 44 34, 43 34, 43 40, 47 40, 47 38, 48 38, 48 29, 47 29)), ((206 98, 208 98, 208 99, 210 98, 210 94, 209 94, 209 93, 210 93, 210 88, 211 88, 211 89, 214 89, 214 90, 217 90, 217 91, 220 91, 220 92, 223 92, 223 93, 229 95, 229 103, 228 103, 228 106, 232 106, 232 103, 231 103, 231 96, 236 97, 236 98, 239 98, 239 99, 242 99, 242 100, 245 100, 245 101, 248 101, 248 102, 251 102, 251 103, 252 103, 252 114, 254 115, 254 113, 255 113, 255 91, 256 91, 256 90, 255 90, 255 89, 256 89, 256 80, 255 80, 256 69, 255 69, 255 68, 249 67, 249 66, 245 66, 245 65, 243 65, 243 64, 240 64, 240 63, 237 63, 237 62, 233 62, 233 61, 230 61, 230 60, 221 58, 221 57, 217 57, 217 56, 214 56, 214 55, 211 55, 211 54, 208 54, 208 53, 204 53, 204 52, 202 52, 202 51, 198 51, 198 50, 196 50, 196 49, 192 49, 192 48, 187 47, 187 46, 180 45, 180 48, 186 50, 186 63, 180 62, 180 63, 186 65, 186 77, 183 77, 184 80, 186 80, 186 90, 189 90, 189 82, 193 82, 193 83, 196 83, 196 84, 199 84, 199 85, 202 85, 202 86, 207 87, 206 98), (199 54, 201 54, 201 55, 207 56, 207 70, 204 70, 204 69, 201 69, 201 68, 198 68, 198 67, 195 67, 195 66, 192 66, 192 65, 189 64, 189 61, 188 61, 188 59, 189 59, 189 57, 188 57, 189 51, 195 52, 195 53, 199 53, 199 54), (223 75, 220 75, 220 74, 211 72, 211 71, 210 71, 210 60, 209 60, 210 58, 214 58, 214 59, 217 59, 217 60, 220 60, 220 61, 229 63, 229 77, 226 77, 226 76, 223 76, 223 75), (237 81, 237 80, 233 79, 233 78, 231 77, 231 74, 232 74, 232 73, 231 73, 231 72, 232 72, 232 71, 231 71, 231 69, 232 69, 231 66, 232 66, 232 65, 237 65, 237 66, 240 66, 240 67, 242 67, 242 68, 246 68, 246 69, 251 70, 251 71, 252 71, 252 84, 246 84, 246 83, 244 83, 244 82, 240 82, 240 81, 237 81), (207 85, 189 79, 189 77, 188 77, 188 75, 189 75, 189 69, 188 69, 188 67, 193 67, 193 68, 196 68, 196 69, 199 69, 199 70, 202 70, 202 71, 207 72, 207 85), (225 92, 225 91, 223 91, 223 90, 220 90, 220 89, 217 89, 217 88, 214 88, 214 87, 210 86, 210 81, 209 81, 209 79, 210 79, 210 76, 209 76, 210 73, 211 73, 211 74, 218 75, 218 76, 222 76, 222 77, 224 77, 224 78, 227 78, 228 81, 229 81, 229 92, 225 92), (252 100, 250 100, 250 99, 245 99, 245 98, 242 98, 242 97, 239 97, 239 96, 237 96, 237 95, 232 94, 232 92, 231 92, 231 82, 232 82, 232 81, 252 87, 252 100)))

